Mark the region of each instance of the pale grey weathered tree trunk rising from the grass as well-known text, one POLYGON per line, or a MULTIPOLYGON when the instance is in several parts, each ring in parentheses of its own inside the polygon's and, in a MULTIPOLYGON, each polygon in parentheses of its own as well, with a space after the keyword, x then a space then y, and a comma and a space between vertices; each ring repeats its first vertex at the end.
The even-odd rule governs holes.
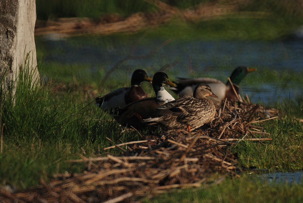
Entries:
MULTIPOLYGON (((28 61, 34 77, 38 77, 34 39, 35 0, 0 0, 0 86, 10 90, 19 69, 28 61)), ((1 91, 0 91, 1 94, 1 91)))

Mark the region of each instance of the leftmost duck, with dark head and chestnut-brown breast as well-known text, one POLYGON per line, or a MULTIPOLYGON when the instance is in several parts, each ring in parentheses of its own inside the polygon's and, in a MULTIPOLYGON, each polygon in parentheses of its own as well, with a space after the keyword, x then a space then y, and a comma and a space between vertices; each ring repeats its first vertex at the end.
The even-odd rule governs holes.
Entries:
POLYGON ((96 105, 99 105, 102 110, 108 111, 146 98, 147 93, 140 85, 143 81, 151 82, 152 79, 147 76, 144 70, 135 70, 132 74, 131 87, 122 87, 104 95, 103 97, 97 97, 96 105))

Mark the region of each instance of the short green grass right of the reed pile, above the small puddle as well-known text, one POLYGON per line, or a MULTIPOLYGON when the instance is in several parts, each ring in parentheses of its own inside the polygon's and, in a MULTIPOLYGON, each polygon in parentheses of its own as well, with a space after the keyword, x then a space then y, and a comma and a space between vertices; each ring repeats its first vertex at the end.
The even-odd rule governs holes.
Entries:
POLYGON ((261 143, 246 141, 235 146, 233 150, 238 153, 239 165, 284 172, 302 169, 302 123, 284 117, 284 120, 267 121, 261 126, 273 140, 261 143))

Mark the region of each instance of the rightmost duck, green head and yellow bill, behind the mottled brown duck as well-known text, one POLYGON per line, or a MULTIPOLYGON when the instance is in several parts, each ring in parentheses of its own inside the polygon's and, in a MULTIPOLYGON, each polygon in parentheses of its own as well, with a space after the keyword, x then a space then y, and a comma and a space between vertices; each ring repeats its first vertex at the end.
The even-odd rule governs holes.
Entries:
MULTIPOLYGON (((230 80, 233 83, 237 94, 239 94, 240 92, 239 84, 241 83, 241 81, 248 73, 251 73, 255 70, 257 69, 239 66, 231 73, 230 80)), ((183 97, 185 95, 192 96, 197 84, 205 83, 208 84, 209 87, 211 87, 211 90, 218 96, 218 99, 215 99, 216 101, 221 102, 221 100, 224 100, 225 98, 227 98, 228 100, 234 100, 235 98, 237 98, 229 80, 226 84, 224 84, 220 80, 217 80, 215 78, 198 77, 192 79, 180 78, 177 82, 178 87, 170 89, 179 94, 179 97, 183 97)))

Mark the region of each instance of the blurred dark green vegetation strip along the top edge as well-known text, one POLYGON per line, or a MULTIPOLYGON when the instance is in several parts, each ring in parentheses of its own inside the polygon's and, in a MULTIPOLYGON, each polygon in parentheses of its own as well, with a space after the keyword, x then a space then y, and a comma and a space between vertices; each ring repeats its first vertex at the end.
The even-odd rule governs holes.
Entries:
MULTIPOLYGON (((137 12, 157 12, 159 7, 155 6, 153 0, 37 0, 37 19, 47 20, 49 18, 88 17, 98 19, 109 13, 117 13, 124 17, 137 12)), ((199 4, 217 2, 225 5, 236 5, 238 11, 267 12, 276 17, 303 17, 303 1, 288 0, 161 0, 167 5, 178 9, 193 8, 199 4)))

